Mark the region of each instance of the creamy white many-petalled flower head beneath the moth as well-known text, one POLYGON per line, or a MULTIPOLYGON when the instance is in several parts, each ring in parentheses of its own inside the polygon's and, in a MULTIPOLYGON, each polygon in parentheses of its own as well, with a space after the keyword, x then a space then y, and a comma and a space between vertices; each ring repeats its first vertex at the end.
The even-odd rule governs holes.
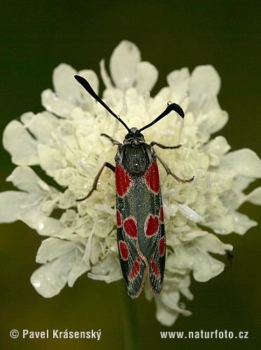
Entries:
MULTIPOLYGON (((122 41, 110 61, 113 83, 101 62, 104 99, 129 127, 150 123, 167 106, 180 103, 185 111, 181 130, 175 113, 144 132, 146 141, 181 144, 176 150, 155 146, 170 169, 183 179, 195 174, 192 183, 178 183, 160 166, 161 188, 167 232, 167 260, 164 286, 155 298, 157 319, 172 325, 178 314, 180 295, 192 300, 190 272, 197 281, 208 281, 224 269, 223 262, 210 253, 231 251, 216 235, 237 232, 244 235, 254 225, 237 209, 249 201, 261 204, 261 188, 245 195, 249 183, 260 177, 261 162, 249 149, 230 151, 224 137, 211 139, 227 123, 217 94, 220 77, 213 66, 172 71, 168 86, 155 97, 149 91, 157 80, 157 69, 141 62, 136 45, 122 41), (213 233, 202 230, 209 228, 213 233)), ((101 137, 111 134, 122 141, 126 130, 97 104, 73 76, 76 71, 60 64, 53 73, 55 92, 42 94, 44 112, 24 113, 11 121, 3 133, 3 146, 17 167, 7 181, 20 191, 0 194, 0 221, 24 221, 43 240, 36 261, 43 264, 31 276, 31 283, 43 297, 52 297, 68 283, 73 286, 85 272, 92 279, 108 283, 122 278, 115 225, 115 183, 104 170, 99 188, 84 202, 97 171, 104 162, 113 163, 115 147, 101 137), (40 166, 55 180, 58 190, 45 183, 30 166, 40 166), (57 218, 57 211, 62 215, 57 218)), ((98 93, 99 80, 90 70, 79 71, 98 93)), ((145 286, 146 296, 152 298, 145 286)))

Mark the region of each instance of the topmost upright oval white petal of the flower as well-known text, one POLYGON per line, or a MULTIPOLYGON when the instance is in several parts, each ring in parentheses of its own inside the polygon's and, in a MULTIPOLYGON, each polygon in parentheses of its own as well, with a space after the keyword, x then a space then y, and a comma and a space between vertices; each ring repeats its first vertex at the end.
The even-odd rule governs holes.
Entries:
POLYGON ((133 86, 139 62, 141 62, 141 52, 130 41, 121 41, 113 50, 110 59, 111 77, 120 90, 133 86))

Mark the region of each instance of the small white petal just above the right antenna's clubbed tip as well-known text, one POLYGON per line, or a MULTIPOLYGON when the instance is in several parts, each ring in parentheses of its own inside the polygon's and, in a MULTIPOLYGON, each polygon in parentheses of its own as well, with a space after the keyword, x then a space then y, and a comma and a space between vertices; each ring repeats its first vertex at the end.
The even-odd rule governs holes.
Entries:
POLYGON ((171 71, 167 76, 167 82, 178 99, 182 99, 185 93, 188 92, 189 78, 190 72, 188 68, 171 71))

